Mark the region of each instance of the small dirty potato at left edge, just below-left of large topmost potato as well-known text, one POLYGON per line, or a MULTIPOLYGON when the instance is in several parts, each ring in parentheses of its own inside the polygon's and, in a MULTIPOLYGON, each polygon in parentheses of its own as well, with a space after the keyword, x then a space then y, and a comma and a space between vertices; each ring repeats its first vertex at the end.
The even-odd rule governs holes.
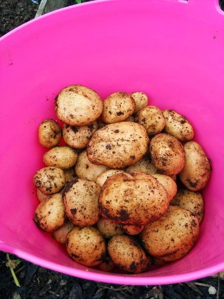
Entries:
POLYGON ((56 146, 61 140, 61 128, 56 120, 43 120, 38 129, 39 143, 47 148, 56 146))

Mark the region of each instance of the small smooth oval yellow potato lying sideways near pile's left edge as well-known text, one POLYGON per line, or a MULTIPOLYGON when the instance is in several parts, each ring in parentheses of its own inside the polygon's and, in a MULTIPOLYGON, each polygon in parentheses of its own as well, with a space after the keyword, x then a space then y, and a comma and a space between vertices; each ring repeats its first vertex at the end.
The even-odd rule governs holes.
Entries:
POLYGON ((43 162, 47 166, 69 169, 75 165, 78 154, 69 146, 61 145, 50 149, 43 155, 43 162))

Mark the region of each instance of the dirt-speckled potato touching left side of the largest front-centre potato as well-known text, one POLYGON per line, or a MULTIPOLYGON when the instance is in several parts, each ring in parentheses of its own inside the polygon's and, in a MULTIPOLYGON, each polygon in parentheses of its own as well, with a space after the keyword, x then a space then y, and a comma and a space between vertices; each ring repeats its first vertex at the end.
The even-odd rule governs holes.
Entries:
POLYGON ((93 181, 75 178, 63 190, 63 202, 68 219, 78 226, 95 224, 99 213, 100 187, 93 181))

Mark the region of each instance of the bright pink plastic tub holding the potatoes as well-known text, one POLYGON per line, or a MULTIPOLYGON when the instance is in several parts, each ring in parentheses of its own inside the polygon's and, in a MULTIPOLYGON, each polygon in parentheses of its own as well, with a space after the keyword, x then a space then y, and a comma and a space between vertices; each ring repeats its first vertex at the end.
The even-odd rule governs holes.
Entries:
POLYGON ((0 249, 69 275, 121 284, 165 284, 224 270, 224 12, 218 0, 107 0, 65 8, 0 39, 0 249), (183 259, 138 275, 105 273, 70 259, 32 221, 32 183, 46 151, 38 124, 55 118, 69 84, 144 91, 195 127, 212 175, 205 218, 183 259))

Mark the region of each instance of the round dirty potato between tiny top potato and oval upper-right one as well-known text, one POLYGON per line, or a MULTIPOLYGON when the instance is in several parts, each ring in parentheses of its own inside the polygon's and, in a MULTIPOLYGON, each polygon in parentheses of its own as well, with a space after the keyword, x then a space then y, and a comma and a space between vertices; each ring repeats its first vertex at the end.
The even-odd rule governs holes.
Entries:
POLYGON ((147 106, 141 109, 136 117, 135 121, 143 125, 149 136, 154 136, 160 133, 165 126, 165 118, 162 111, 155 106, 147 106))

